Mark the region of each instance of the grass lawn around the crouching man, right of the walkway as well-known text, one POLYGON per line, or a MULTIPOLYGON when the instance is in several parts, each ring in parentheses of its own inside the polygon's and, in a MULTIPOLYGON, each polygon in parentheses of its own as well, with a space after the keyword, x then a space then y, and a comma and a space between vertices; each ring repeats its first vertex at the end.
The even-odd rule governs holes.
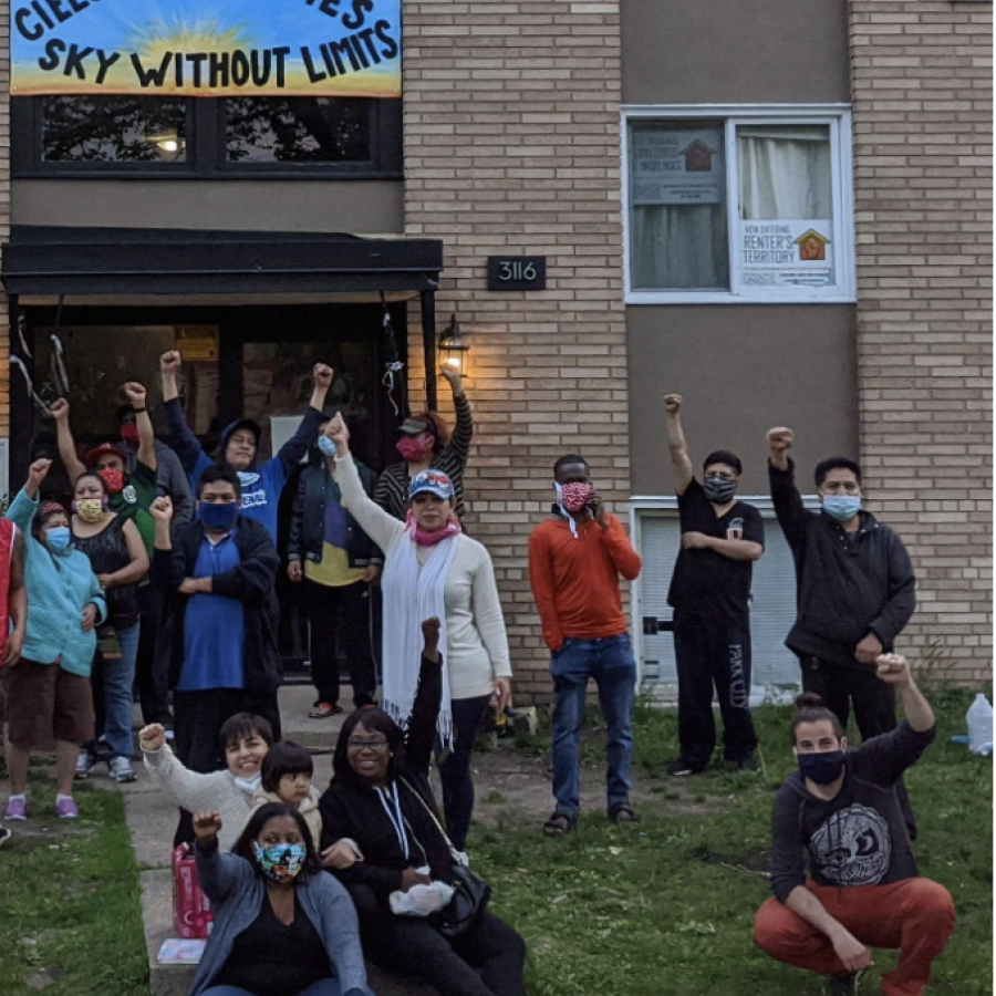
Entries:
MULTIPOLYGON (((964 733, 972 696, 932 697, 937 740, 906 778, 919 816, 921 873, 947 886, 956 932, 935 963, 930 992, 992 994, 992 760, 948 743, 964 733)), ((639 827, 612 827, 600 812, 578 831, 549 840, 509 809, 498 828, 475 827, 475 868, 494 885, 494 910, 530 951, 529 996, 817 996, 822 979, 776 963, 751 941, 754 913, 770 895, 767 868, 771 800, 793 767, 789 710, 757 713, 764 771, 719 768, 668 779, 676 717, 639 710, 634 774, 652 779, 639 827), (679 784, 676 785, 675 782, 679 784)), ((540 740, 520 745, 538 749, 540 740)), ((583 778, 604 779, 601 732, 590 732, 583 778)), ((515 800, 509 798, 510 806, 515 800)), ((895 953, 876 951, 861 992, 895 953)))

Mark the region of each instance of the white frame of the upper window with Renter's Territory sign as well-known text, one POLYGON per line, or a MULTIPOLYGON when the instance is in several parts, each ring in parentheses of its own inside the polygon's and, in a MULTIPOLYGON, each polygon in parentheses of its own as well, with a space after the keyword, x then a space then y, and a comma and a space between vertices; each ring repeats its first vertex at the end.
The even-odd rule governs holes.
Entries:
POLYGON ((852 304, 857 300, 854 184, 850 104, 633 104, 622 108, 623 267, 626 304, 852 304), (630 259, 630 124, 636 121, 723 118, 730 290, 633 290, 630 259), (829 125, 833 181, 837 284, 830 288, 741 288, 736 246, 739 224, 738 125, 829 125))

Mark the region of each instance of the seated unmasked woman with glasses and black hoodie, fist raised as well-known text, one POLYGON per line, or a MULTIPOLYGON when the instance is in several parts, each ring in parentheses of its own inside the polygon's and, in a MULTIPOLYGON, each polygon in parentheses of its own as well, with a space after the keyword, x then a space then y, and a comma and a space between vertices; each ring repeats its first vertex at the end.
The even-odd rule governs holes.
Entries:
MULTIPOLYGON (((382 709, 343 724, 321 799, 322 857, 349 888, 374 964, 417 976, 440 996, 523 996, 526 944, 486 909, 447 925, 460 863, 429 782, 442 698, 438 619, 422 623, 421 678, 406 732, 382 709)), ((479 880, 478 880, 479 881, 479 880)))

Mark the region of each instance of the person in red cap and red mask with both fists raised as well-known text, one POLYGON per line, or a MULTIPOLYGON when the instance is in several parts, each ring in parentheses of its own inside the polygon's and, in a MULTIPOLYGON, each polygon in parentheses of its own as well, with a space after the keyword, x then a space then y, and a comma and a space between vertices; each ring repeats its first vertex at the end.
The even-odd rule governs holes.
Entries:
POLYGON ((115 443, 101 443, 80 459, 69 424, 70 404, 64 397, 52 405, 59 456, 71 480, 75 480, 85 470, 96 470, 107 489, 107 508, 123 519, 134 520, 145 550, 152 556, 156 525, 149 508, 159 497, 156 488, 156 436, 145 404, 145 387, 129 381, 124 385, 124 393, 135 412, 135 424, 138 426, 138 458, 134 470, 128 473, 128 454, 115 443))

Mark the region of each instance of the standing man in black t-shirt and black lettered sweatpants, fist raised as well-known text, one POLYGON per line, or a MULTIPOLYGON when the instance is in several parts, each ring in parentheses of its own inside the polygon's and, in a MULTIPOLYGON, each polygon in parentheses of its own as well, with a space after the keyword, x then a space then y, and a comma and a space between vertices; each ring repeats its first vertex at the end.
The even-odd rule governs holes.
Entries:
POLYGON ((668 775, 704 771, 716 746, 713 687, 723 716, 724 756, 756 771, 757 734, 750 716, 750 579, 765 552, 765 527, 753 505, 734 497, 739 457, 717 450, 695 479, 681 421, 682 396, 664 397, 667 447, 675 474, 682 549, 667 603, 674 609, 681 756, 668 775))

